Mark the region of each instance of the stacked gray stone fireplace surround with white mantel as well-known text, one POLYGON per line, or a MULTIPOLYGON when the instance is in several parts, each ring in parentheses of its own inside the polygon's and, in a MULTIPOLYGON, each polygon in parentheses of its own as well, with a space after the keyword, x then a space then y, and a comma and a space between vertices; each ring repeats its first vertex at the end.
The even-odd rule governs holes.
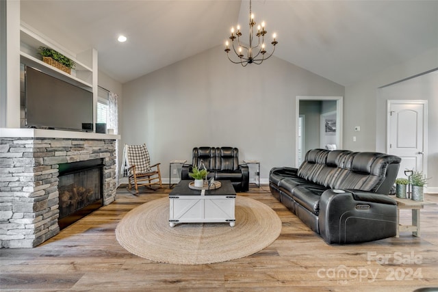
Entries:
POLYGON ((60 232, 60 163, 103 159, 103 204, 115 200, 116 139, 120 136, 77 136, 87 134, 90 139, 74 134, 55 138, 0 135, 0 248, 32 248, 60 232))

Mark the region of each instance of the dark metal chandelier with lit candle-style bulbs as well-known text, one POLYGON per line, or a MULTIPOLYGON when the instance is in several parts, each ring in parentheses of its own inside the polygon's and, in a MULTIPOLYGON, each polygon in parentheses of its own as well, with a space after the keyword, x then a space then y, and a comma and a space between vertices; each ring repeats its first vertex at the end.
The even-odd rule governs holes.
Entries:
POLYGON ((249 1, 249 45, 248 45, 248 47, 242 45, 242 43, 240 42, 240 37, 242 36, 242 33, 240 32, 240 26, 237 25, 237 31, 236 31, 235 35, 234 35, 234 27, 231 27, 231 36, 229 37, 229 39, 231 40, 233 51, 234 51, 235 55, 237 55, 237 57, 238 57, 237 61, 234 61, 233 59, 231 59, 230 54, 229 54, 229 52, 231 51, 231 49, 229 48, 229 42, 228 42, 228 40, 227 40, 227 42, 225 42, 225 45, 227 46, 227 49, 225 49, 225 52, 227 52, 227 57, 234 64, 241 64, 244 67, 246 67, 246 65, 251 64, 251 63, 259 65, 259 64, 261 64, 261 62, 268 59, 274 53, 275 45, 279 43, 275 40, 275 38, 276 38, 275 34, 272 36, 274 38, 274 40, 271 42, 272 47, 273 47, 272 53, 270 53, 268 55, 268 57, 265 57, 265 54, 266 54, 265 35, 268 32, 265 30, 265 23, 264 22, 262 22, 261 25, 259 25, 257 27, 257 34, 255 34, 255 36, 257 36, 257 38, 258 38, 258 42, 257 42, 256 46, 253 46, 253 38, 254 38, 253 27, 254 27, 254 25, 255 25, 254 14, 251 11, 251 0, 250 0, 249 1), (237 51, 236 51, 236 48, 234 45, 234 40, 236 38, 237 38, 237 44, 238 44, 237 51))

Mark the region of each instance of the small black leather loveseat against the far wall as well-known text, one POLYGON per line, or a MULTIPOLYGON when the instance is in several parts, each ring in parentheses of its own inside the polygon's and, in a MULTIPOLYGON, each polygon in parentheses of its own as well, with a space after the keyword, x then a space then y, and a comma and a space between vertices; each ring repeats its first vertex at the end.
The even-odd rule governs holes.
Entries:
POLYGON ((195 147, 192 150, 192 164, 185 164, 181 170, 181 179, 190 178, 192 165, 201 167, 204 163, 215 181, 231 181, 235 191, 248 191, 248 165, 239 164, 239 149, 233 147, 195 147))

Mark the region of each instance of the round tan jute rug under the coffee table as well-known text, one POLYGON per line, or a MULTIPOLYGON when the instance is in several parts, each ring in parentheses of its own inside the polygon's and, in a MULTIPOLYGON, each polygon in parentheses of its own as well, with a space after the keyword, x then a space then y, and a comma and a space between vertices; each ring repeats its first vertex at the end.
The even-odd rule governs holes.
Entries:
POLYGON ((127 251, 159 263, 201 265, 249 256, 270 245, 281 220, 261 202, 236 196, 235 226, 183 223, 170 227, 169 199, 161 198, 129 211, 116 228, 127 251))

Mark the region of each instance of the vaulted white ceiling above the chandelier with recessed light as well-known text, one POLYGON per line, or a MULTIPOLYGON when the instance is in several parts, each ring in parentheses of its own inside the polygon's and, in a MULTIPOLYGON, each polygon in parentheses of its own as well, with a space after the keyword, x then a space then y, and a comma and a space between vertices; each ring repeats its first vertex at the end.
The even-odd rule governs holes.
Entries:
MULTIPOLYGON (((342 85, 438 47, 438 1, 253 0, 253 13, 278 35, 276 57, 342 85)), ((121 83, 223 45, 237 24, 246 40, 248 14, 246 0, 21 0, 22 21, 75 53, 95 48, 121 83)))

